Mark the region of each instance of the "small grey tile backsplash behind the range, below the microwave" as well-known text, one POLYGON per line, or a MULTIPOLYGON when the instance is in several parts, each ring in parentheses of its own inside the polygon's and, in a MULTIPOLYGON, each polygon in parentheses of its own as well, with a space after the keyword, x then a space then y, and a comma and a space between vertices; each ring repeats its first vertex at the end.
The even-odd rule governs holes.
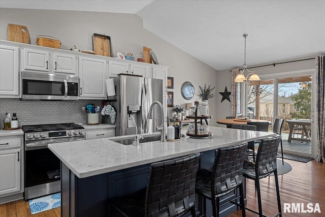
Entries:
MULTIPOLYGON (((1 129, 6 112, 17 113, 18 126, 47 123, 86 123, 87 114, 82 110, 87 104, 99 105, 101 100, 78 101, 21 101, 20 99, 0 99, 1 129)), ((100 110, 100 112, 101 112, 100 110)), ((102 115, 100 115, 100 122, 102 115)))

